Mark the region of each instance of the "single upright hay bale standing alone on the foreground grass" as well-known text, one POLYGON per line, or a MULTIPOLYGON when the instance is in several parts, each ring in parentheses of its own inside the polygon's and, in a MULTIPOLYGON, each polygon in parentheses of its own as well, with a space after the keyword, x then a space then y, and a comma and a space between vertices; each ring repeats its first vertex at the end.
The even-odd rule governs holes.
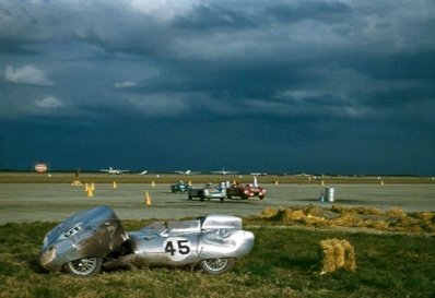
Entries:
POLYGON ((320 241, 322 269, 320 274, 332 273, 343 269, 355 272, 355 251, 348 240, 325 239, 320 241))

